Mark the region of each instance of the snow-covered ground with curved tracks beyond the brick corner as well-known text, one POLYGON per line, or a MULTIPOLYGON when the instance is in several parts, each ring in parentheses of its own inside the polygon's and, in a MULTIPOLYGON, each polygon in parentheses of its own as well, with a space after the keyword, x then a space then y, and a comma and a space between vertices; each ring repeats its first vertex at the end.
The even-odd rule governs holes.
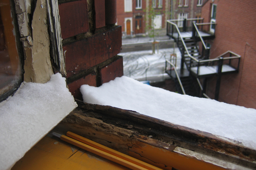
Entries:
POLYGON ((150 82, 164 81, 170 78, 165 73, 165 59, 170 60, 173 53, 177 54, 177 66, 180 67, 181 54, 179 48, 160 49, 157 54, 152 50, 120 53, 124 60, 124 76, 134 78, 138 81, 149 80, 150 82))

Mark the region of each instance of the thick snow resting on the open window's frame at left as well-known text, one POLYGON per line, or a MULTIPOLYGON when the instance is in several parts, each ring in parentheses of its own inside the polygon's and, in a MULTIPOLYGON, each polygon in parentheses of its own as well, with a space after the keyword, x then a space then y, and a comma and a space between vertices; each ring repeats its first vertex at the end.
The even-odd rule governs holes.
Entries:
POLYGON ((11 167, 74 108, 66 78, 52 75, 45 84, 25 83, 0 107, 0 169, 11 167))

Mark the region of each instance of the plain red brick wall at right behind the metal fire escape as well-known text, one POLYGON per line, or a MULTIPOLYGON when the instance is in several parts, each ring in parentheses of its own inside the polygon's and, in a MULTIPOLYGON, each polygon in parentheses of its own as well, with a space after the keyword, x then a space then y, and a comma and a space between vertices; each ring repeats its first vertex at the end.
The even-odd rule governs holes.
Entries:
MULTIPOLYGON (((219 101, 256 109, 256 2, 253 0, 208 0, 202 7, 204 22, 211 22, 212 7, 216 8, 215 39, 210 58, 230 50, 241 55, 239 72, 223 75, 219 101)), ((207 81, 207 95, 214 96, 216 78, 207 81)))

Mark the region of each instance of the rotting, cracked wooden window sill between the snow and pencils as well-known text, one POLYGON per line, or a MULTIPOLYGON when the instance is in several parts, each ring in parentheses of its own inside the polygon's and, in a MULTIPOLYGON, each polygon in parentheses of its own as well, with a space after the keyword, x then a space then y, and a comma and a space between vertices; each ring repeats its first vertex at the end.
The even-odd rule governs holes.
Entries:
MULTIPOLYGON (((142 144, 144 149, 157 148, 163 153, 171 154, 173 158, 177 156, 182 158, 184 154, 174 151, 176 147, 179 147, 217 158, 220 162, 224 161, 250 169, 256 168, 256 151, 246 148, 236 141, 224 140, 210 133, 174 125, 134 111, 92 105, 79 100, 76 102, 78 107, 55 129, 63 133, 68 130, 72 131, 92 141, 165 169, 172 165, 153 160, 152 155, 139 153, 143 152, 143 147, 137 150, 135 148, 142 144)), ((192 162, 195 161, 195 165, 199 168, 199 165, 207 162, 207 160, 200 160, 191 155, 187 155, 184 160, 187 159, 192 162)), ((167 159, 163 160, 168 161, 167 159)), ((213 166, 212 163, 205 165, 208 164, 213 166)), ((173 167, 178 168, 177 165, 173 167)), ((214 167, 215 165, 212 168, 214 167)), ((217 167, 221 169, 221 166, 217 167)), ((179 169, 182 168, 179 167, 179 169)))

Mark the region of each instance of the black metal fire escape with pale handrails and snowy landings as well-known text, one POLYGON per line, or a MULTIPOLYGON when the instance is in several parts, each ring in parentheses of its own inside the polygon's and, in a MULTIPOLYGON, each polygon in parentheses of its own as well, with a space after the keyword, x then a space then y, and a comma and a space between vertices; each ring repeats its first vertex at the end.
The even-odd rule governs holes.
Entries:
POLYGON ((167 35, 174 39, 180 50, 181 65, 176 70, 172 60, 166 60, 165 72, 174 80, 180 94, 206 98, 209 98, 205 94, 207 79, 216 76, 214 99, 218 100, 221 75, 237 73, 241 56, 227 51, 209 59, 210 44, 204 41, 215 38, 210 32, 211 28, 215 30, 215 23, 201 21, 203 18, 167 20, 167 35), (177 24, 183 27, 179 28, 177 24))

